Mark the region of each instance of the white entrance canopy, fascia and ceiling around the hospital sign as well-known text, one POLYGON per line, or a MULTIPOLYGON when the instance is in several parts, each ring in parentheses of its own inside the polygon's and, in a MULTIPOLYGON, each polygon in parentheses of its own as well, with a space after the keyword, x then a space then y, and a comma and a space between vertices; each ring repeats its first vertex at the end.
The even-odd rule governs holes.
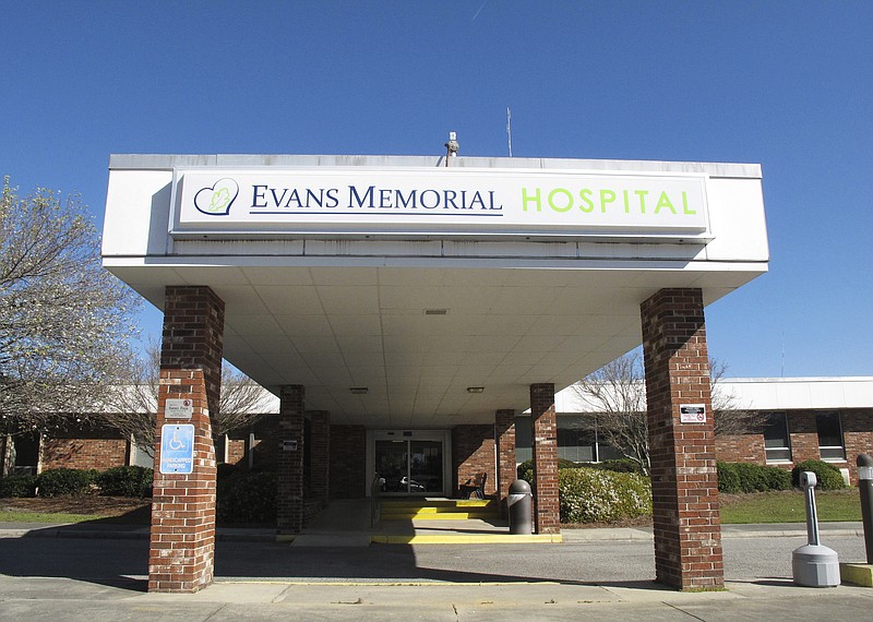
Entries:
POLYGON ((711 229, 701 236, 706 239, 656 243, 296 239, 287 231, 283 239, 174 239, 170 188, 180 167, 215 165, 225 174, 249 165, 339 163, 362 164, 366 171, 435 160, 113 156, 104 263, 158 308, 167 285, 212 287, 226 303, 225 358, 267 388, 306 385, 307 407, 330 410, 336 423, 421 428, 490 422, 499 408, 524 411, 530 384, 563 388, 637 346, 639 303, 657 290, 699 287, 709 303, 766 271, 754 165, 456 159, 453 166, 522 166, 525 175, 533 168, 647 170, 649 177, 667 171, 694 179, 729 172, 742 186, 737 196, 743 202, 731 203, 730 183, 715 184, 710 207, 730 208, 734 218, 710 213, 711 229), (732 238, 742 238, 737 252, 732 238), (368 391, 355 395, 352 386, 368 391), (485 391, 469 393, 471 386, 485 391))

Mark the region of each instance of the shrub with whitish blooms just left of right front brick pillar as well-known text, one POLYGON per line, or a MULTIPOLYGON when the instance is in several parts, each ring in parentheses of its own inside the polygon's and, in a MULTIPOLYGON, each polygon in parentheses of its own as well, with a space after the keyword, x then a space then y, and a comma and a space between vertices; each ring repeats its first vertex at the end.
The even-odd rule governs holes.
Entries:
POLYGON ((562 523, 611 523, 651 514, 648 478, 594 468, 558 471, 562 523))

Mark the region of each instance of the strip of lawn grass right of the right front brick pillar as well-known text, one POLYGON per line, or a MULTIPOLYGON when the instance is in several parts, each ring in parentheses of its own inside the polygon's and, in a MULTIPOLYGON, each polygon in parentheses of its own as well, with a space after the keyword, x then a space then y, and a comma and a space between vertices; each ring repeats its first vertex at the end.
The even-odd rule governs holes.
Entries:
MULTIPOLYGON (((857 489, 816 491, 818 521, 861 521, 861 499, 857 489)), ((805 497, 798 490, 722 494, 721 523, 805 523, 805 497)))

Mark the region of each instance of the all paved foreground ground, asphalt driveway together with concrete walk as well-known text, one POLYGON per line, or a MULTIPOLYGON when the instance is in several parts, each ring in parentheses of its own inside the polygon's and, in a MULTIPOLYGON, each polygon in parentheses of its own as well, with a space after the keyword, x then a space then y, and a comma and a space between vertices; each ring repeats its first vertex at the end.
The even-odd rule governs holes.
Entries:
MULTIPOLYGON (((863 561, 863 539, 845 534, 824 531, 823 543, 841 561, 863 561)), ((644 538, 354 548, 219 541, 215 584, 195 595, 145 593, 144 539, 0 538, 0 618, 849 620, 873 610, 873 589, 793 585, 791 551, 805 537, 726 536, 728 589, 696 594, 651 582, 644 538)))

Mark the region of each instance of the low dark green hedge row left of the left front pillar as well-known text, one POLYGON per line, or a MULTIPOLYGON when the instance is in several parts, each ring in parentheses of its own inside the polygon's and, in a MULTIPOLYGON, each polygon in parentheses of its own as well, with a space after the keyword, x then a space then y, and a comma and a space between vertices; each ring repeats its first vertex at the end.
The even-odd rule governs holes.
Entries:
POLYGON ((104 471, 56 468, 39 475, 0 479, 0 497, 60 497, 96 492, 109 497, 150 497, 152 469, 113 467, 104 471))

